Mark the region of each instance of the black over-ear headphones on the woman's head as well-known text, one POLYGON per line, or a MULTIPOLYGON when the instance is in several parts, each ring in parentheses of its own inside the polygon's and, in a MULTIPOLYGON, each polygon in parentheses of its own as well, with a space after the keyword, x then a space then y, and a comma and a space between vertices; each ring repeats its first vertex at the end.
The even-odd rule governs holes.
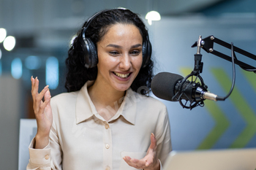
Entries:
MULTIPOLYGON (((122 9, 122 8, 118 8, 118 9, 122 9)), ((80 44, 83 49, 83 55, 80 58, 80 61, 87 69, 97 66, 98 55, 97 55, 97 47, 96 45, 94 45, 94 42, 92 42, 91 39, 86 38, 86 29, 89 27, 91 21, 94 20, 94 18, 97 18, 97 16, 102 14, 102 12, 107 12, 110 10, 112 9, 102 10, 94 14, 91 18, 89 18, 89 20, 86 21, 86 25, 83 27, 82 35, 79 37, 80 44)), ((145 42, 143 42, 142 53, 143 53, 143 63, 141 66, 145 67, 150 61, 151 53, 152 53, 152 47, 151 47, 151 42, 149 41, 149 38, 148 38, 148 32, 146 34, 146 40, 145 42)))

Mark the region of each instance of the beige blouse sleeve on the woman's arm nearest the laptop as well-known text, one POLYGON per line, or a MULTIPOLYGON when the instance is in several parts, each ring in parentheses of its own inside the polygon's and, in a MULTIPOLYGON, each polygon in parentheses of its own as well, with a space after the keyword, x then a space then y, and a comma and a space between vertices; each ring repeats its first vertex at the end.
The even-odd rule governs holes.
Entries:
POLYGON ((165 107, 164 111, 159 115, 159 120, 156 129, 156 139, 157 139, 157 156, 161 162, 161 166, 165 164, 165 160, 172 150, 171 140, 170 140, 170 123, 165 107))

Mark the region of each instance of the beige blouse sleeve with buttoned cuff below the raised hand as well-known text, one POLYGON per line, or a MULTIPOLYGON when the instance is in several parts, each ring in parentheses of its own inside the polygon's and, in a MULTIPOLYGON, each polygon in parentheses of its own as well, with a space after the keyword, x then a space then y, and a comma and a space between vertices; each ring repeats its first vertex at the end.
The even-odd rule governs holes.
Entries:
POLYGON ((56 125, 50 130, 50 142, 44 149, 34 149, 35 139, 29 144, 29 164, 27 170, 61 170, 62 151, 59 144, 59 137, 56 134, 56 125))

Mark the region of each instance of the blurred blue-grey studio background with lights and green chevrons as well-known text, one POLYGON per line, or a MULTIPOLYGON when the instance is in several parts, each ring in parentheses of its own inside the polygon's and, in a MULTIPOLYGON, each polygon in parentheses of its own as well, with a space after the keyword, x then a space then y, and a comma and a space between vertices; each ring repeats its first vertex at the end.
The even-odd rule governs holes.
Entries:
MULTIPOLYGON (((140 14, 149 30, 155 74, 186 76, 194 68, 201 35, 256 54, 255 0, 0 0, 0 169, 18 169, 20 118, 34 118, 30 77, 39 90, 50 85, 52 96, 65 92, 65 58, 72 37, 83 22, 102 9, 125 7, 140 14), (146 20, 157 11, 161 20, 146 20), (15 45, 13 44, 15 42, 15 45)), ((230 56, 230 50, 217 47, 230 56)), ((208 90, 225 96, 232 82, 232 64, 203 54, 208 90)), ((256 66, 255 60, 238 59, 256 66)), ((162 100, 163 101, 163 100, 162 100)), ((204 107, 183 109, 163 101, 168 109, 173 150, 256 147, 256 74, 236 66, 236 85, 226 101, 206 101, 204 107)))

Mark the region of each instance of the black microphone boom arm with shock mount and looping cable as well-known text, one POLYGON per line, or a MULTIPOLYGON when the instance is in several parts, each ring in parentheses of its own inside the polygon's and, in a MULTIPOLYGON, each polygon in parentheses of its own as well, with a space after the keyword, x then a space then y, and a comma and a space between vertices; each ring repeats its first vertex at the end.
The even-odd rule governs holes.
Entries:
POLYGON ((241 55, 245 55, 246 57, 252 58, 255 61, 256 55, 253 55, 252 53, 248 53, 245 50, 241 50, 240 48, 235 47, 233 45, 233 42, 231 42, 231 44, 228 44, 227 42, 223 42, 222 40, 217 39, 214 36, 208 36, 205 39, 202 39, 202 36, 199 36, 199 39, 197 40, 197 42, 195 42, 194 45, 192 45, 192 47, 197 47, 197 53, 195 53, 195 67, 193 71, 189 75, 187 75, 187 77, 184 77, 183 80, 178 82, 178 84, 175 87, 175 95, 172 98, 172 101, 179 101, 183 108, 193 109, 197 106, 203 107, 203 101, 206 99, 213 101, 225 101, 225 99, 232 93, 235 85, 235 64, 240 66, 241 69, 256 73, 256 68, 254 66, 250 66, 249 64, 239 61, 236 58, 235 51, 237 53, 240 53, 241 55), (217 50, 214 50, 214 42, 219 45, 222 45, 223 47, 229 48, 231 50, 231 57, 223 53, 219 53, 217 50), (233 81, 230 88, 230 92, 225 97, 209 93, 207 90, 208 86, 203 82, 203 78, 200 77, 200 73, 203 72, 202 54, 200 53, 201 48, 203 48, 203 50, 206 50, 207 53, 217 55, 219 58, 223 58, 227 61, 232 62, 233 81), (195 77, 195 80, 193 79, 193 77, 195 77), (189 82, 189 78, 192 79, 191 82, 189 82), (185 101, 185 103, 183 103, 182 101, 185 101), (188 101, 190 102, 189 105, 187 104, 188 101))

